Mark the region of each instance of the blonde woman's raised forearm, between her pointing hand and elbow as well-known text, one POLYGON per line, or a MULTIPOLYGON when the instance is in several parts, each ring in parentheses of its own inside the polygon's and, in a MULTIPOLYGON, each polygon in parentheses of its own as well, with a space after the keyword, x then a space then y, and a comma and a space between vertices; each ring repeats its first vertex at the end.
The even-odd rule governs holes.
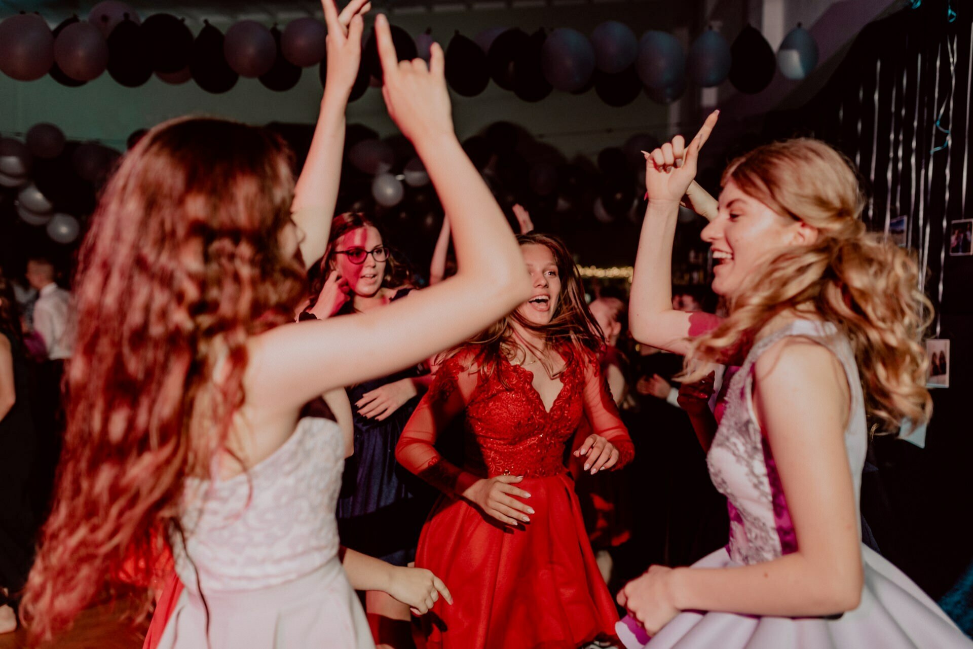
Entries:
POLYGON ((672 242, 678 214, 679 203, 650 200, 638 240, 629 322, 635 340, 652 346, 663 346, 654 342, 653 318, 672 310, 672 242))

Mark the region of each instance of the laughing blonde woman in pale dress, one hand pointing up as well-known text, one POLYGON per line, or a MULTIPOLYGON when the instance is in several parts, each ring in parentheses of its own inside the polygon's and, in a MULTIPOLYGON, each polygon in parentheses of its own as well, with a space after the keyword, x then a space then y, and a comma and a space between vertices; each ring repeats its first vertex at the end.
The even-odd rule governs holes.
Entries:
MULTIPOLYGON (((925 421, 921 336, 930 306, 908 253, 861 221, 851 163, 795 139, 723 173, 712 248, 722 320, 672 310, 680 199, 714 113, 646 154, 649 205, 631 287, 631 332, 708 363, 739 365, 710 441, 730 542, 691 567, 654 565, 619 594, 642 628, 629 647, 970 647, 919 587, 862 545, 858 494, 870 432, 925 421), (644 637, 651 635, 648 644, 644 637)), ((629 619, 630 622, 631 618, 629 619)))

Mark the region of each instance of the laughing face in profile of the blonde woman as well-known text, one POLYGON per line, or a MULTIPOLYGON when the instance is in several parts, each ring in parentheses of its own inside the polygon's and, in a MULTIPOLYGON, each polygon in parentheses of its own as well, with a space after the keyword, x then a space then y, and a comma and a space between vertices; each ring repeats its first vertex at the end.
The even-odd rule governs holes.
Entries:
POLYGON ((703 229, 703 241, 713 252, 713 292, 736 297, 747 277, 775 254, 789 246, 811 243, 815 234, 802 221, 777 214, 744 194, 730 180, 720 194, 717 217, 703 229))

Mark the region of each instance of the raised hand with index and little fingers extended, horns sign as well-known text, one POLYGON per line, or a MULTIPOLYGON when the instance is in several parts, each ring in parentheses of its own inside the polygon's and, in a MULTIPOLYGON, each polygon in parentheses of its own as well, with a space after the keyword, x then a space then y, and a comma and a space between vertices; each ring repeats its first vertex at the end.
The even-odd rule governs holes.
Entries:
POLYGON ((375 19, 375 34, 381 60, 381 94, 389 117, 413 143, 436 133, 448 133, 453 137, 443 48, 438 43, 432 44, 429 66, 426 67, 421 58, 399 61, 388 19, 380 14, 375 19))

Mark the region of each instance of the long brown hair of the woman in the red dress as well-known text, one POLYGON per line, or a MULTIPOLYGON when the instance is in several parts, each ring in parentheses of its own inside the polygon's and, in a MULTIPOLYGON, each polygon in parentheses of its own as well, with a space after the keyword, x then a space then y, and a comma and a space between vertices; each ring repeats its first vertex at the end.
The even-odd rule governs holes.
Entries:
MULTIPOLYGON (((485 376, 496 372, 502 379, 500 359, 522 359, 525 350, 522 343, 518 343, 514 333, 514 323, 535 334, 544 346, 558 346, 566 354, 564 367, 574 362, 578 352, 588 350, 595 354, 605 346, 604 334, 592 315, 588 303, 585 301, 585 289, 581 281, 581 273, 571 259, 571 253, 559 237, 553 234, 529 233, 519 234, 517 242, 523 245, 543 245, 554 255, 560 277, 560 295, 558 305, 551 315, 551 321, 546 325, 536 325, 526 320, 517 310, 513 310, 500 318, 483 332, 453 347, 444 354, 450 357, 462 349, 472 348, 479 371, 485 376)), ((557 376, 548 367, 539 349, 532 349, 548 374, 557 376)))

